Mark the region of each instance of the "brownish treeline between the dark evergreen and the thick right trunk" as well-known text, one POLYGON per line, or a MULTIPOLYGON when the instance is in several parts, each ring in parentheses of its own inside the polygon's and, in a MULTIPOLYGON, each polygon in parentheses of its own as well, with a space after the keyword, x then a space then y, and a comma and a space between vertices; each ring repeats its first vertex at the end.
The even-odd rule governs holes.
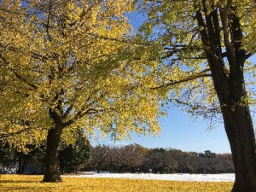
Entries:
POLYGON ((183 152, 177 149, 143 148, 138 144, 123 147, 97 146, 90 149, 85 171, 153 173, 230 173, 234 172, 231 154, 183 152))

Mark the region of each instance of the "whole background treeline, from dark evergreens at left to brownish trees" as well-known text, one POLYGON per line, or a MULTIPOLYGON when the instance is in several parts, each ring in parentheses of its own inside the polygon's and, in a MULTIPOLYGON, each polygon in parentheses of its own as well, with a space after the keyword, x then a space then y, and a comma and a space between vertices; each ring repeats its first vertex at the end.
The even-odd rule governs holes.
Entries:
MULTIPOLYGON (((1 172, 14 168, 17 173, 44 172, 44 145, 30 146, 22 153, 2 145, 1 172)), ((138 144, 121 147, 91 147, 79 140, 74 146, 61 145, 59 150, 61 172, 153 172, 153 173, 224 173, 234 172, 231 154, 183 152, 172 148, 144 148, 138 144)))

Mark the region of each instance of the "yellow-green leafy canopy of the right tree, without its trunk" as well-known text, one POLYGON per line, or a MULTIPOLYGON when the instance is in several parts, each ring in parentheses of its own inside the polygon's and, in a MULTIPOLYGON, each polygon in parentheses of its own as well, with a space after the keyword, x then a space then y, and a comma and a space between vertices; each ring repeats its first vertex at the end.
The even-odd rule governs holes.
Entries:
MULTIPOLYGON (((138 9, 147 13, 147 20, 139 30, 137 38, 147 39, 148 44, 158 50, 161 59, 156 69, 159 75, 159 85, 156 87, 169 92, 172 102, 192 114, 202 115, 212 119, 212 115, 220 112, 218 98, 214 90, 211 70, 207 63, 206 44, 202 44, 196 11, 206 2, 206 15, 212 10, 218 10, 218 27, 221 41, 224 70, 229 77, 230 63, 225 56, 225 39, 231 42, 231 33, 224 37, 224 22, 220 18, 219 10, 226 9, 227 0, 191 0, 191 1, 149 1, 138 5, 138 9), (225 39, 224 39, 225 38, 225 39), (171 89, 170 89, 171 88, 171 89)), ((236 6, 234 14, 241 21, 243 32, 242 48, 248 57, 255 53, 256 44, 256 9, 253 1, 232 1, 236 6)), ((204 18, 206 15, 203 15, 204 18)), ((216 19, 217 20, 217 19, 216 19)), ((255 107, 255 63, 246 61, 244 66, 248 97, 243 98, 255 107)), ((242 101, 241 101, 242 102, 242 101)), ((239 103, 238 103, 239 104, 239 103)), ((253 107, 253 108, 254 108, 253 107)), ((253 109, 252 108, 252 109, 253 109)))

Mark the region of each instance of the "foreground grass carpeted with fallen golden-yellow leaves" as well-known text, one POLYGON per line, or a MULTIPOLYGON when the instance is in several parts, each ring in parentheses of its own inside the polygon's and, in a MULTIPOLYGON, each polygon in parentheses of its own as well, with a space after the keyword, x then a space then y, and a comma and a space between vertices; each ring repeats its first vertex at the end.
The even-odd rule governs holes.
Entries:
POLYGON ((42 183, 43 176, 2 175, 0 191, 24 192, 230 192, 233 183, 177 182, 124 178, 63 177, 61 183, 42 183))

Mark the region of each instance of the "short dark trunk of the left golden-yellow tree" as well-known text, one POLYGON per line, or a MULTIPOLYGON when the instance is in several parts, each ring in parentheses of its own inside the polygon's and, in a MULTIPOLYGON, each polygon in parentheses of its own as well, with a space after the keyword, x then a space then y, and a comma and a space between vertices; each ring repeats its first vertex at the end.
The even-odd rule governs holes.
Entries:
POLYGON ((61 130, 60 125, 55 125, 55 128, 48 131, 43 182, 56 183, 62 181, 58 155, 58 147, 61 141, 61 130))

